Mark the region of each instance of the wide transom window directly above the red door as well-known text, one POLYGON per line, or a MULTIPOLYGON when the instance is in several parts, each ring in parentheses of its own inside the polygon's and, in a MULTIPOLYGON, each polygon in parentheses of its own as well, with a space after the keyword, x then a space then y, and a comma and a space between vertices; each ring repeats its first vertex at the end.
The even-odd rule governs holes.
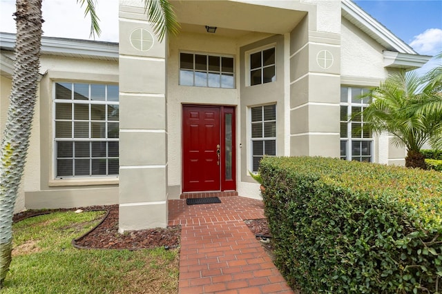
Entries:
POLYGON ((180 85, 209 88, 235 87, 233 57, 180 53, 180 85))

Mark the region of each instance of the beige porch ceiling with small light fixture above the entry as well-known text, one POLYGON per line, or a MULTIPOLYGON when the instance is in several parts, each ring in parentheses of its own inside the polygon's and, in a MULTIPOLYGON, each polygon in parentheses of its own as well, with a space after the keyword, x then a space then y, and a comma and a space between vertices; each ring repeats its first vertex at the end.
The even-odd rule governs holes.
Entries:
POLYGON ((241 3, 237 1, 172 0, 182 30, 205 32, 216 26, 216 35, 241 37, 249 32, 284 34, 300 22, 306 12, 241 3))

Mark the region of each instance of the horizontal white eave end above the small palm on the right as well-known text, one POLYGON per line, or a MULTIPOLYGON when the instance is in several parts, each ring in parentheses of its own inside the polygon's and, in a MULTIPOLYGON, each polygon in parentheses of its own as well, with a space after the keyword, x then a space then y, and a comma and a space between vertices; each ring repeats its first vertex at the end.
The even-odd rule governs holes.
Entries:
POLYGON ((415 55, 392 51, 384 51, 383 55, 384 66, 386 68, 402 68, 405 70, 421 68, 432 58, 431 56, 427 55, 415 55))

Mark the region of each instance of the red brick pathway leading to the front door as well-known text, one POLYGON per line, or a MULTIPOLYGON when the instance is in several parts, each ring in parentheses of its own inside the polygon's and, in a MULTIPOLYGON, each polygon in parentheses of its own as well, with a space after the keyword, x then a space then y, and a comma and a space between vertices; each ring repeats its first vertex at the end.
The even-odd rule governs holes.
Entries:
POLYGON ((179 293, 294 293, 244 224, 264 217, 262 202, 220 199, 189 206, 169 200, 169 225, 182 226, 179 293))

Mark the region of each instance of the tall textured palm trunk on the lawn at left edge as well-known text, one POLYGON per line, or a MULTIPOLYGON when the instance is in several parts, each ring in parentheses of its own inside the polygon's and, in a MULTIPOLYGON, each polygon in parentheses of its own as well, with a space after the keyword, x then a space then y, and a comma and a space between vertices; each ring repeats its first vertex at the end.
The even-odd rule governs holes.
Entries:
POLYGON ((0 288, 12 260, 12 217, 28 153, 30 129, 37 99, 43 22, 41 1, 16 1, 15 66, 8 117, 1 138, 0 288))

